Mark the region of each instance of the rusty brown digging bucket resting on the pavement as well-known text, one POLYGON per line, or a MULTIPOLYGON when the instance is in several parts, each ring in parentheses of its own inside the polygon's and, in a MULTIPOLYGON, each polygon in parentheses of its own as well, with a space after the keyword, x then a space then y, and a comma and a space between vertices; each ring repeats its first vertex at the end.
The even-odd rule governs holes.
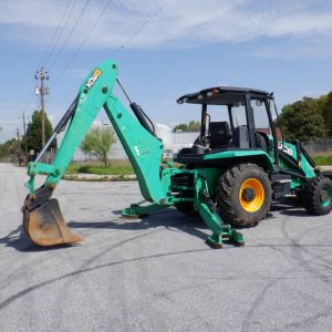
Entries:
POLYGON ((51 198, 31 211, 25 210, 23 228, 27 236, 39 246, 75 243, 83 240, 65 224, 55 198, 51 198))

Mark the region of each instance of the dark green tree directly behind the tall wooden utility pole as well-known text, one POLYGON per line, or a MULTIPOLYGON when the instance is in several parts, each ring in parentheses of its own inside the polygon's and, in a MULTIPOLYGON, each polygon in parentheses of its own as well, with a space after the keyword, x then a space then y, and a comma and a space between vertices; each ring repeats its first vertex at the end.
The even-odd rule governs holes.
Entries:
MULTIPOLYGON (((53 133, 52 124, 45 113, 45 142, 50 139, 53 133)), ((24 145, 25 136, 22 137, 22 148, 24 145)), ((42 114, 41 111, 34 111, 32 114, 31 122, 28 124, 27 128, 27 145, 28 151, 34 149, 40 152, 42 149, 42 114)), ((51 144, 51 148, 56 148, 56 141, 51 144)))

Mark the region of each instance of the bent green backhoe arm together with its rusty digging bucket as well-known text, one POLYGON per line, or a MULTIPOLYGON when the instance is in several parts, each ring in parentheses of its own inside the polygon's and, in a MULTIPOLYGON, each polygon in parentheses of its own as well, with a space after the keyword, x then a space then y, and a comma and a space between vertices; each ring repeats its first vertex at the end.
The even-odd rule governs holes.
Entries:
POLYGON ((107 60, 95 68, 79 90, 53 165, 34 162, 28 166, 30 180, 25 186, 30 194, 23 205, 23 226, 27 235, 38 245, 53 246, 81 240, 80 236, 69 230, 58 200, 51 197, 102 107, 133 165, 144 198, 154 204, 167 204, 159 175, 163 144, 113 94, 116 79, 117 65, 114 61, 107 60), (38 174, 46 174, 48 177, 43 186, 35 190, 34 178, 38 174))

